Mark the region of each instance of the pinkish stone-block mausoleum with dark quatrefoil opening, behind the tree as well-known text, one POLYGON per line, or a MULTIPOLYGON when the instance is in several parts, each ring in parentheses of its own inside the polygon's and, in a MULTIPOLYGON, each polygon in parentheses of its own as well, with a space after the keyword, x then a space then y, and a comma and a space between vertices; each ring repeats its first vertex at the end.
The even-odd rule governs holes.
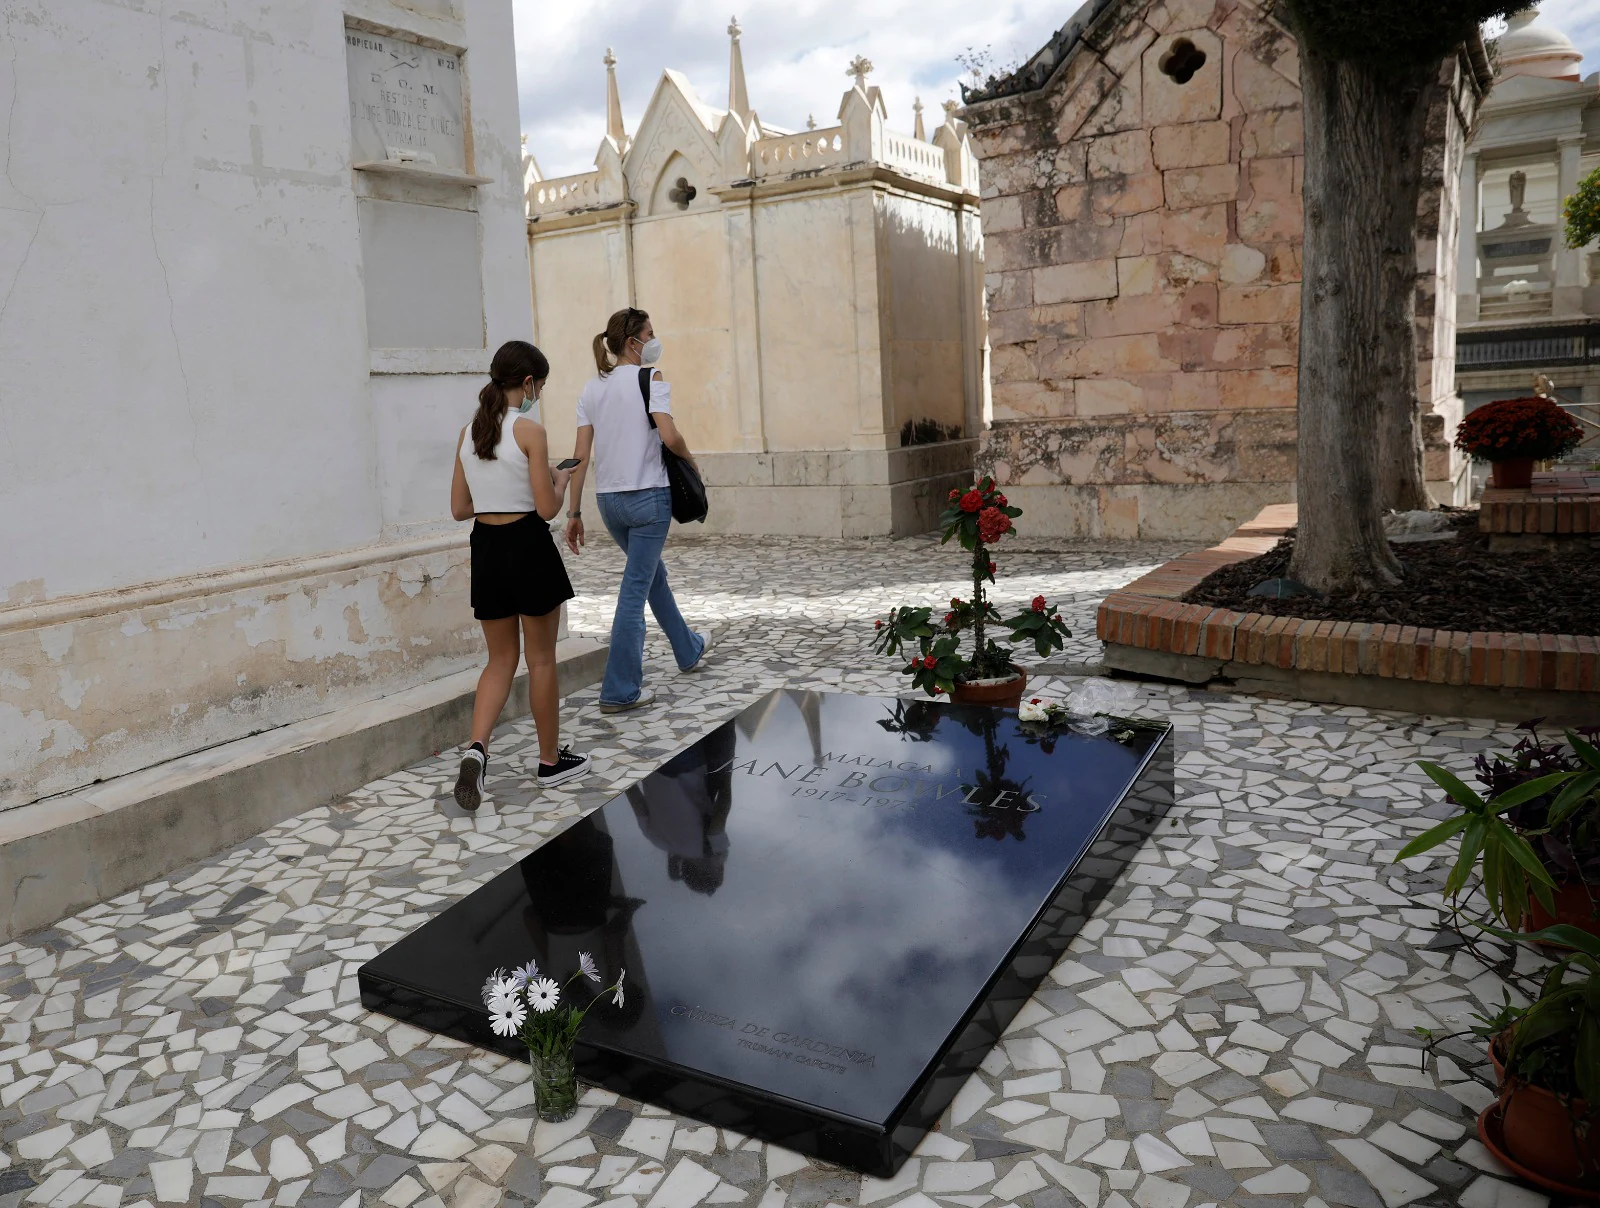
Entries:
MULTIPOLYGON (((1486 62, 1448 64, 1418 248, 1429 488, 1461 501, 1456 165, 1486 62), (1440 282, 1445 285, 1440 288, 1440 282)), ((1296 43, 1258 0, 1088 0, 966 90, 994 422, 978 464, 1043 531, 1211 539, 1294 493, 1296 43)))

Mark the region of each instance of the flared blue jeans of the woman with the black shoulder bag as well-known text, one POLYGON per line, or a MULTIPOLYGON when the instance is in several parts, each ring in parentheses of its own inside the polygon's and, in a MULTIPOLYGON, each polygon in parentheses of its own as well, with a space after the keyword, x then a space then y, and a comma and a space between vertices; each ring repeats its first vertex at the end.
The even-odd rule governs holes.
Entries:
POLYGON ((661 547, 672 528, 672 491, 653 486, 643 491, 606 491, 595 496, 606 531, 627 555, 622 587, 611 618, 611 653, 600 683, 602 704, 632 704, 645 682, 645 602, 656 624, 672 643, 678 667, 693 667, 706 650, 706 638, 688 627, 667 584, 661 547))

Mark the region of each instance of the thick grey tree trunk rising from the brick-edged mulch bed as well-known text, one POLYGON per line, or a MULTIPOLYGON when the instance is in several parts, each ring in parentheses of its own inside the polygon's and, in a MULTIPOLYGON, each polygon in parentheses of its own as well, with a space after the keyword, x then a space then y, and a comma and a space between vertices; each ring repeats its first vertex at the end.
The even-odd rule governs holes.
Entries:
POLYGON ((1410 475, 1421 488, 1416 222, 1437 74, 1437 64, 1338 62, 1301 45, 1306 248, 1290 574, 1323 592, 1400 579, 1382 530, 1386 482, 1410 475))

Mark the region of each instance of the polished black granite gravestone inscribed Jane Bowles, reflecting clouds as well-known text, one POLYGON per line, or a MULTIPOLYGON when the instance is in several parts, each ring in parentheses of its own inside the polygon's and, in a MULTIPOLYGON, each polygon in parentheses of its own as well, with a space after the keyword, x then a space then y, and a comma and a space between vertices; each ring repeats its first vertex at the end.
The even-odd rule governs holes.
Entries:
POLYGON ((525 1056, 483 979, 592 952, 627 994, 581 1077, 888 1176, 1160 822, 1168 733, 774 691, 368 962, 362 1002, 525 1056))

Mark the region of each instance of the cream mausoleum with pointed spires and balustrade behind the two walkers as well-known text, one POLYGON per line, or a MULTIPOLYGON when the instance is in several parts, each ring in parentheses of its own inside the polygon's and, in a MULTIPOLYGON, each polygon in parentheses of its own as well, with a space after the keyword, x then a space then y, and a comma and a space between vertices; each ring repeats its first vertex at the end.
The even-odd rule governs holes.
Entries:
POLYGON ((552 448, 573 438, 595 333, 637 306, 667 349, 709 531, 923 533, 970 480, 986 418, 966 130, 952 104, 928 138, 920 102, 912 133, 891 130, 866 59, 834 125, 774 126, 730 35, 725 109, 667 70, 630 136, 608 54, 594 171, 544 179, 526 160, 552 448))

